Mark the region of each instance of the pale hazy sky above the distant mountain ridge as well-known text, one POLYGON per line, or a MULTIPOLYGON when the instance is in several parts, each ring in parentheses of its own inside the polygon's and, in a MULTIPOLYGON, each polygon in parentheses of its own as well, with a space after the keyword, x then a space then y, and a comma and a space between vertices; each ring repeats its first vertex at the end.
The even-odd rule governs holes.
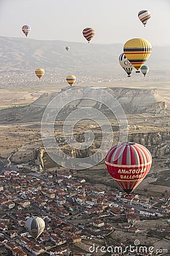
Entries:
POLYGON ((145 38, 154 46, 170 46, 170 0, 0 0, 0 35, 86 42, 85 27, 96 31, 92 43, 125 43, 145 38), (146 27, 138 12, 150 10, 146 27))

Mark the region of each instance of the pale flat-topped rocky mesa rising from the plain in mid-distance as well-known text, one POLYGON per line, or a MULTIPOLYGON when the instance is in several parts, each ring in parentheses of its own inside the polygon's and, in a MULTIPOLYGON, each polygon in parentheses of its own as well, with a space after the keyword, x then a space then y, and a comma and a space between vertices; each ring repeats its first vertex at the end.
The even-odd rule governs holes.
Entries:
MULTIPOLYGON (((82 95, 82 86, 76 86, 76 94, 79 96, 79 89, 81 89, 81 96, 83 100, 76 100, 70 102, 63 108, 62 113, 59 114, 59 119, 65 119, 67 114, 72 112, 75 109, 88 106, 91 108, 99 109, 103 113, 108 113, 108 108, 101 104, 101 102, 96 102, 94 100, 85 100, 86 95, 89 95, 91 88, 89 86, 83 87, 82 95)), ((41 121, 42 115, 46 109, 46 106, 50 101, 53 100, 55 96, 60 93, 65 92, 66 90, 71 90, 72 88, 66 87, 57 93, 44 93, 32 104, 19 108, 9 108, 1 110, 0 112, 0 123, 15 123, 15 122, 34 122, 41 121)), ((156 90, 148 89, 131 89, 131 88, 100 88, 107 91, 109 94, 114 96, 116 100, 120 103, 124 112, 126 114, 138 114, 138 113, 164 113, 167 110, 167 104, 163 97, 160 97, 156 90)), ((71 91, 70 91, 71 92, 71 91)), ((75 91, 73 90, 73 95, 75 91)), ((71 94, 70 94, 71 96, 71 94)), ((104 96, 105 97, 105 96, 104 96)), ((106 96, 107 97, 107 96, 106 96)), ((63 101, 64 96, 62 96, 63 101)), ((104 101, 107 101, 107 98, 103 98, 104 101)), ((71 101, 71 97, 70 97, 71 101)), ((55 109, 51 111, 55 112, 55 109)))

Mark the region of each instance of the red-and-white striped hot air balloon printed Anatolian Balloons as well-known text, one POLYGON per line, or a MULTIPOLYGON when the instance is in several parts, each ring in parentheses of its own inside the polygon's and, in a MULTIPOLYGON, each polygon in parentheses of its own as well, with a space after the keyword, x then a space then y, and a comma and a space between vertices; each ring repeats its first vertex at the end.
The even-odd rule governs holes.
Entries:
POLYGON ((133 142, 113 146, 105 157, 105 165, 111 177, 127 194, 141 183, 151 168, 150 151, 133 142))

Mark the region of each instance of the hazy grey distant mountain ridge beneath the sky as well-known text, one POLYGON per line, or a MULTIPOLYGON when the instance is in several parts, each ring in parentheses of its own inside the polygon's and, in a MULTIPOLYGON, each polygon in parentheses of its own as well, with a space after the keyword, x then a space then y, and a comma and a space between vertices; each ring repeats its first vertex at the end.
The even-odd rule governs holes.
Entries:
MULTIPOLYGON (((123 45, 74 43, 59 40, 35 40, 0 36, 0 71, 29 72, 42 67, 56 75, 79 73, 81 76, 122 75, 118 63, 123 45), (67 52, 65 47, 69 46, 67 52)), ((170 73, 170 47, 152 46, 152 54, 146 64, 150 75, 170 73)))

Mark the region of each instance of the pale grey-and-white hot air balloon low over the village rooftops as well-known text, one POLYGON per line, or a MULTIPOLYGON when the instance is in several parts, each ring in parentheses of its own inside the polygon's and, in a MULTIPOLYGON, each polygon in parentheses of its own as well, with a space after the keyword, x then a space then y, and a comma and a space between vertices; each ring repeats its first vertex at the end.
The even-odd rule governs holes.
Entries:
POLYGON ((45 222, 40 217, 31 217, 25 222, 25 227, 28 229, 29 234, 37 240, 44 231, 45 222))

